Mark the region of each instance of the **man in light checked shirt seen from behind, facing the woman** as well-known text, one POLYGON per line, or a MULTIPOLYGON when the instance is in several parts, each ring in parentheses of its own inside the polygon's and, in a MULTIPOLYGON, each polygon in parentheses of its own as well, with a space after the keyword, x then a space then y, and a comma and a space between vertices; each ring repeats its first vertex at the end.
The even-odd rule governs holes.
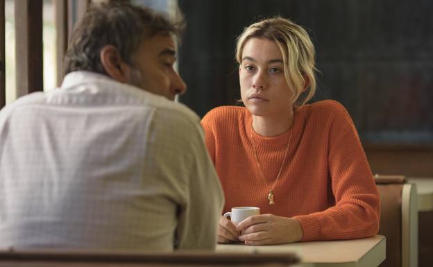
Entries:
POLYGON ((0 112, 0 246, 213 249, 223 205, 199 118, 174 103, 182 22, 88 10, 60 89, 0 112))

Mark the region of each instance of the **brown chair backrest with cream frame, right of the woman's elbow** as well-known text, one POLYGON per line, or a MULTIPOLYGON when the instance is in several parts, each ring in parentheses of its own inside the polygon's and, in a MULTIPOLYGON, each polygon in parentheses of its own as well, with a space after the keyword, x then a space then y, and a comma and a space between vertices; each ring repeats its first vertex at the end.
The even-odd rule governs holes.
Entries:
POLYGON ((387 259, 381 267, 418 266, 416 185, 398 175, 375 175, 380 193, 379 234, 387 237, 387 259))

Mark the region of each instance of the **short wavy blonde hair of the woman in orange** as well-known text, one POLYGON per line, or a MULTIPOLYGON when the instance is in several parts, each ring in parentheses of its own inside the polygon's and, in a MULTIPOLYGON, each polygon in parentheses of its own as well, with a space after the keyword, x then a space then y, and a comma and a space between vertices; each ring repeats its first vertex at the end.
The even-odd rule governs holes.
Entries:
POLYGON ((283 57, 287 85, 293 91, 292 102, 296 107, 307 103, 316 92, 314 45, 307 31, 289 19, 273 17, 251 24, 237 37, 236 60, 242 61, 242 51, 251 38, 274 41, 283 57), (305 88, 305 85, 308 85, 305 88))

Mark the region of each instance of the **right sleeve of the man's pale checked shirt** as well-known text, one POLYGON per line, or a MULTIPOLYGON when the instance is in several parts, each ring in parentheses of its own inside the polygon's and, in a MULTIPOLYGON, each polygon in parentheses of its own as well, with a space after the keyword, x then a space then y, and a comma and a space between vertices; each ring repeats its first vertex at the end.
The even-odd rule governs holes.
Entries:
POLYGON ((178 202, 175 248, 214 250, 223 191, 207 153, 198 117, 180 115, 160 118, 165 126, 171 125, 171 140, 166 140, 166 147, 176 155, 175 162, 167 157, 161 159, 167 165, 176 165, 165 171, 173 177, 171 184, 178 184, 176 191, 180 196, 173 197, 178 202))

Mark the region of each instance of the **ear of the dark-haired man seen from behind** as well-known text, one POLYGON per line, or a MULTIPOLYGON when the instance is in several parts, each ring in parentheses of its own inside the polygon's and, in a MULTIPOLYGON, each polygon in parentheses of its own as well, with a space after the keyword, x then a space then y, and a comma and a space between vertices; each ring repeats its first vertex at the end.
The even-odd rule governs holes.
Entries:
POLYGON ((108 44, 103 46, 99 53, 101 64, 105 72, 114 80, 121 83, 128 82, 130 78, 130 66, 122 60, 116 46, 108 44))

